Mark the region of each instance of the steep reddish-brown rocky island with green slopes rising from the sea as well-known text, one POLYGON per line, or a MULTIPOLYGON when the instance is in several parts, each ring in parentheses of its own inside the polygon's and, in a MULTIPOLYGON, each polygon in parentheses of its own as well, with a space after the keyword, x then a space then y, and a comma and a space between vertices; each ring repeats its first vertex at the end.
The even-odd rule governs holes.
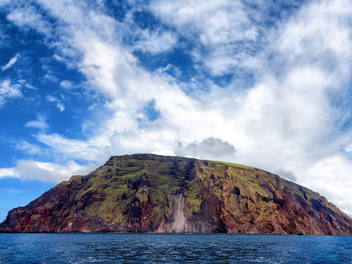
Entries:
POLYGON ((264 170, 135 154, 113 156, 12 209, 0 232, 351 235, 352 219, 264 170))

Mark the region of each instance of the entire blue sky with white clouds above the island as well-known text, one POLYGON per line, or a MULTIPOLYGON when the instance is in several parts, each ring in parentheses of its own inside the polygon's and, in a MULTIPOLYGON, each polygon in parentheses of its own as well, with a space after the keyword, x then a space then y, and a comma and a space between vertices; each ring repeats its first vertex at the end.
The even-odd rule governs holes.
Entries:
POLYGON ((254 166, 352 216, 352 2, 0 0, 0 221, 110 156, 254 166))

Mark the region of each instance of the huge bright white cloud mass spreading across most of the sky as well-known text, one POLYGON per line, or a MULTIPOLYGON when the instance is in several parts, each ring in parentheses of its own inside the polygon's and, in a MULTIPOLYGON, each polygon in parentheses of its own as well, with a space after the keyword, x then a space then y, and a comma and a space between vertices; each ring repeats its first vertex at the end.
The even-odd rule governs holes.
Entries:
MULTIPOLYGON (((91 120, 96 125, 87 140, 39 133, 37 140, 56 155, 99 164, 110 155, 151 151, 209 158, 209 144, 201 143, 218 138, 228 143, 225 149, 233 146, 237 150, 224 156, 221 148, 216 149, 218 160, 226 157, 227 161, 282 171, 319 190, 345 212, 352 210, 346 200, 352 186, 344 172, 351 170, 352 163, 341 153, 341 149, 351 149, 351 130, 341 129, 342 121, 351 116, 345 96, 352 68, 349 1, 312 1, 265 31, 260 28, 262 18, 254 19, 253 10, 248 13, 241 2, 153 1, 150 10, 177 32, 140 31, 145 37, 141 35, 133 47, 121 41, 130 21, 126 26, 90 10, 84 2, 41 3, 48 15, 62 21, 56 32, 47 33, 64 40, 64 44, 56 43, 58 54, 74 58, 72 63, 87 78, 87 89, 105 96, 102 105, 111 112, 99 123, 91 120), (174 47, 177 36, 194 44, 194 61, 212 75, 241 68, 253 74, 253 86, 237 89, 240 80, 234 80, 219 88, 201 74, 190 83, 181 83, 165 70, 149 72, 140 67, 131 53, 136 49, 149 54, 165 52, 174 47), (162 46, 157 38, 163 39, 162 46), (334 101, 332 95, 341 101, 334 101), (146 120, 143 109, 150 100, 155 100, 155 110, 160 112, 153 122, 146 120), (334 175, 334 183, 328 174, 334 175)), ((60 85, 69 89, 71 83, 60 85)))

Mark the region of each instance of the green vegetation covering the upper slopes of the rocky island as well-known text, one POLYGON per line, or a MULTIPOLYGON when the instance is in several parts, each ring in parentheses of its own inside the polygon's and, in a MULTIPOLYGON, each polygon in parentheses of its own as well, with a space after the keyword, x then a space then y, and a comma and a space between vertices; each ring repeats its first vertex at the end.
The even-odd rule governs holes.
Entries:
MULTIPOLYGON (((80 177, 72 177, 64 184, 72 181, 80 181, 80 177)), ((175 206, 174 197, 180 193, 189 215, 200 213, 207 206, 204 199, 216 197, 226 201, 232 214, 228 217, 232 219, 235 215, 235 219, 244 223, 249 220, 243 212, 258 210, 257 223, 271 217, 273 202, 268 197, 273 195, 279 199, 283 193, 296 195, 308 203, 312 198, 321 200, 313 191, 251 166, 143 154, 117 156, 87 176, 75 210, 84 215, 98 215, 109 225, 118 225, 127 221, 133 208, 148 207, 148 219, 156 221, 153 225, 158 226, 168 213, 171 217, 169 208, 175 206)), ((329 203, 326 207, 336 210, 329 203)), ((333 222, 333 225, 338 224, 333 222)))

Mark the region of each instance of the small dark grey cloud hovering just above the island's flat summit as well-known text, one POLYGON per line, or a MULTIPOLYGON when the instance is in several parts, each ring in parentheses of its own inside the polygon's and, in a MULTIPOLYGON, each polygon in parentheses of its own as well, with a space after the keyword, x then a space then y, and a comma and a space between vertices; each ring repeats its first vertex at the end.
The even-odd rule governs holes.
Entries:
POLYGON ((221 138, 209 137, 201 142, 194 141, 184 147, 186 155, 199 158, 216 158, 232 155, 236 152, 234 146, 221 138))

